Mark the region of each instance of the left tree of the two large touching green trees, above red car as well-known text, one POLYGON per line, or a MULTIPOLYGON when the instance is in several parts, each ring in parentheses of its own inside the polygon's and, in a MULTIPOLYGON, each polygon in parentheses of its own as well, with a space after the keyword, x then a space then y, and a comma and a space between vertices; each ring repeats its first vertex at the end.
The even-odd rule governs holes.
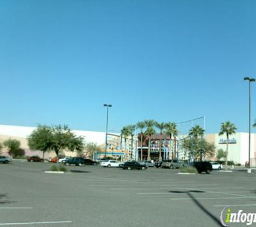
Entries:
POLYGON ((28 137, 27 142, 31 150, 39 150, 43 152, 43 159, 45 152, 50 151, 52 145, 53 135, 52 129, 46 125, 38 125, 28 137))

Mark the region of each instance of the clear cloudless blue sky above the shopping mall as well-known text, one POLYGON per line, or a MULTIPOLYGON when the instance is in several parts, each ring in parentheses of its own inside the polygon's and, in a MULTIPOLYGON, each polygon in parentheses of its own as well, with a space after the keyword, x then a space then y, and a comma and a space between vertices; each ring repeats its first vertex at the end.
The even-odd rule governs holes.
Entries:
POLYGON ((205 116, 246 132, 255 23, 254 0, 1 0, 0 124, 105 131, 108 103, 110 130, 205 116))

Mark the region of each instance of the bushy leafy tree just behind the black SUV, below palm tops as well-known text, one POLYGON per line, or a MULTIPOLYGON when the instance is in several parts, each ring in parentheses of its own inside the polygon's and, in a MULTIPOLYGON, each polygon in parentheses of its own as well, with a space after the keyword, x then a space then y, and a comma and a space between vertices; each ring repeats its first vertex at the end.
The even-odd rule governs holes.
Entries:
MULTIPOLYGON (((205 155, 212 156, 215 152, 215 145, 204 138, 188 137, 181 142, 181 148, 189 152, 193 160, 202 160, 205 155)), ((190 160, 190 159, 189 159, 190 160)))

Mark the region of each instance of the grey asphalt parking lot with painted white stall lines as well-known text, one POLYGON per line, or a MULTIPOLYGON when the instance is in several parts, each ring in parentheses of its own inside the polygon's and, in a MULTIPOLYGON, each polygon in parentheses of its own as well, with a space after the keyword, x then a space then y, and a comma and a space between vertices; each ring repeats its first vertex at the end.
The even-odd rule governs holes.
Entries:
POLYGON ((71 173, 44 173, 51 165, 0 164, 0 225, 221 226, 226 205, 256 208, 256 174, 242 169, 180 175, 178 169, 69 166, 71 173))

